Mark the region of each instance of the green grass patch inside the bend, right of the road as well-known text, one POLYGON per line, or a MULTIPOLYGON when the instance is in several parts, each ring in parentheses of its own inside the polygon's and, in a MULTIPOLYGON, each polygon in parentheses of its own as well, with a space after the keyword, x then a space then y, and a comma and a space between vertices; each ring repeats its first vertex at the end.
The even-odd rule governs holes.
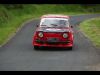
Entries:
POLYGON ((100 17, 85 20, 79 27, 94 42, 94 45, 100 47, 100 17))

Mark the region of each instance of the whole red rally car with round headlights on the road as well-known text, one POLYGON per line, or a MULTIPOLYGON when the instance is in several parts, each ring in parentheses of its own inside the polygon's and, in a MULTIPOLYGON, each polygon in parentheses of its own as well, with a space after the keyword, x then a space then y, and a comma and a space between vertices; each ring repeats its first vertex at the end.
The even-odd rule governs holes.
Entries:
POLYGON ((39 46, 73 47, 73 30, 66 15, 43 15, 33 38, 34 49, 39 46))

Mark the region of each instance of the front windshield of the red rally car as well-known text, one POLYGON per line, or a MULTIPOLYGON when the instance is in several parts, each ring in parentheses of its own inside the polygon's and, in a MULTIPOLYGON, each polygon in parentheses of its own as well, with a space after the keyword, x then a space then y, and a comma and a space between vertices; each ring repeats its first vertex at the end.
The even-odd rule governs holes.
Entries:
POLYGON ((67 18, 42 18, 40 27, 69 28, 67 18))

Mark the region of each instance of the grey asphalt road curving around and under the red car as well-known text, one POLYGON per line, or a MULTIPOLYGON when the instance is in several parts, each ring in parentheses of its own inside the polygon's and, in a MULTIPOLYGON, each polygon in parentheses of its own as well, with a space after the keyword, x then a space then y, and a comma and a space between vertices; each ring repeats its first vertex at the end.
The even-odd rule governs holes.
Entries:
POLYGON ((0 48, 0 71, 87 71, 100 63, 100 49, 85 37, 78 24, 100 14, 69 16, 73 25, 73 50, 45 47, 34 50, 33 34, 39 19, 32 20, 0 48))

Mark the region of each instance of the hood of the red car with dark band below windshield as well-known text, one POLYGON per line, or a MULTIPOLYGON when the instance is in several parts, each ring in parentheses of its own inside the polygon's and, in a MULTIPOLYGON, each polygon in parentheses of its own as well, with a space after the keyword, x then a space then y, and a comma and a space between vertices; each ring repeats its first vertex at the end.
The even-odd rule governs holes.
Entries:
POLYGON ((63 33, 69 32, 69 29, 57 29, 57 28, 38 28, 38 32, 45 32, 45 33, 63 33))

